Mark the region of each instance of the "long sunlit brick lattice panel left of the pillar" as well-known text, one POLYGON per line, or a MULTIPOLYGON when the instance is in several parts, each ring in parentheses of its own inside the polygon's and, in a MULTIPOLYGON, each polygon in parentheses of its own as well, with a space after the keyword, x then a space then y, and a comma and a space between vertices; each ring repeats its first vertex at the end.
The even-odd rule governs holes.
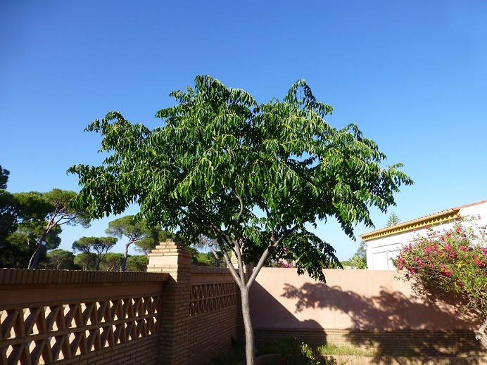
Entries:
POLYGON ((4 307, 1 364, 50 364, 158 332, 160 295, 4 307))

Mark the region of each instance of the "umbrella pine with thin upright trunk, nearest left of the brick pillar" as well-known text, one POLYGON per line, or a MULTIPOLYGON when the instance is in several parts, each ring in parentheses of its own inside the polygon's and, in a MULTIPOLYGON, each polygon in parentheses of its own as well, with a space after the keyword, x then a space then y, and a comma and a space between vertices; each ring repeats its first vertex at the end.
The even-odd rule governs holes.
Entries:
MULTIPOLYGON (((144 238, 148 238, 153 241, 154 229, 148 229, 144 220, 137 221, 134 219, 133 215, 127 215, 108 222, 108 229, 106 229, 105 233, 109 236, 115 236, 118 238, 125 236, 129 239, 125 243, 124 257, 121 265, 121 271, 125 271, 129 246, 132 245, 132 243, 139 243, 144 238)), ((152 246, 151 243, 153 242, 146 240, 142 243, 142 245, 143 247, 146 247, 147 245, 152 246)))

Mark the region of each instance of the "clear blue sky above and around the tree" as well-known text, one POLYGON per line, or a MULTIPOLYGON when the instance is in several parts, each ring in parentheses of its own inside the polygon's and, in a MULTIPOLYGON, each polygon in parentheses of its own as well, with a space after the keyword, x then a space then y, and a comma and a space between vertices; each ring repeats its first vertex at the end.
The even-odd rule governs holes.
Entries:
MULTIPOLYGON (((66 169, 101 162, 89 122, 118 110, 155 127, 170 91, 205 74, 259 102, 306 79, 330 124, 355 122, 405 164, 403 221, 487 199, 486 1, 0 0, 0 45, 11 192, 79 191, 66 169)), ((61 248, 108 220, 65 228, 61 248)), ((317 232, 341 260, 358 247, 333 222, 317 232)))

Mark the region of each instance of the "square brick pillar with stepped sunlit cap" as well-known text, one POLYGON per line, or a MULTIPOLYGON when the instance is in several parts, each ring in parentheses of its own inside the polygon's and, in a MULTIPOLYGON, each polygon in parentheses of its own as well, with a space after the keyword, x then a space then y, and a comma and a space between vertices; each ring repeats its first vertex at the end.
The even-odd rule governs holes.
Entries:
POLYGON ((160 326, 159 364, 186 365, 189 358, 189 297, 191 254, 167 239, 148 254, 147 271, 167 272, 160 326))

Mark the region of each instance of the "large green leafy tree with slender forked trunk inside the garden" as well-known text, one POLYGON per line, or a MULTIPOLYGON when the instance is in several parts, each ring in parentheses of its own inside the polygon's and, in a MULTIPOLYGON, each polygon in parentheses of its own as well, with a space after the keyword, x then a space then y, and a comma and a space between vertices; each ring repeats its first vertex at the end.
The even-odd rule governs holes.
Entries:
POLYGON ((354 237, 355 224, 372 226, 369 207, 386 212, 399 186, 412 181, 400 164, 381 167, 386 155, 354 124, 331 127, 324 117, 333 108, 304 80, 283 101, 263 104, 207 76, 170 95, 177 105, 156 114, 162 127, 132 124, 118 112, 89 124, 108 157, 69 169, 82 186, 72 206, 103 217, 137 203, 149 224, 179 229, 189 242, 215 238, 239 286, 253 364, 248 293, 273 252, 286 245, 299 274, 324 281, 322 269, 340 262, 308 224, 335 217, 354 237), (248 278, 246 262, 255 264, 248 278))

